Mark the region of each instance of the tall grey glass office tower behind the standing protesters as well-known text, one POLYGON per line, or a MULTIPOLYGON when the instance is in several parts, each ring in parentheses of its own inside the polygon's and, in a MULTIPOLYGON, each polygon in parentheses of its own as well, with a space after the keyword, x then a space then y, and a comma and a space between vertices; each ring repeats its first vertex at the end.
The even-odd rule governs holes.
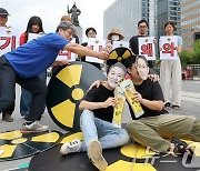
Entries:
MULTIPOLYGON (((129 40, 138 34, 138 21, 146 19, 149 22, 149 36, 159 38, 164 36, 164 23, 173 21, 177 30, 181 33, 180 7, 181 0, 116 0, 103 13, 103 37, 117 27, 129 40)), ((189 1, 189 0, 188 0, 189 1)))

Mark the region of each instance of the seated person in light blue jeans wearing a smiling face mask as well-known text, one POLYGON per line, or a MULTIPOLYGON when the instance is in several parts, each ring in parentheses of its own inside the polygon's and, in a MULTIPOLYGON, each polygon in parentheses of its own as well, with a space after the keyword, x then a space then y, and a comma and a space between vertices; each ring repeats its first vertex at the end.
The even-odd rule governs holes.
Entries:
POLYGON ((62 154, 88 151, 94 167, 106 170, 108 163, 102 157, 102 149, 123 145, 129 141, 127 131, 112 124, 113 107, 117 105, 113 90, 124 79, 126 73, 124 66, 116 63, 110 67, 107 81, 88 91, 79 105, 79 109, 83 110, 80 125, 84 141, 76 139, 64 143, 60 150, 62 154))

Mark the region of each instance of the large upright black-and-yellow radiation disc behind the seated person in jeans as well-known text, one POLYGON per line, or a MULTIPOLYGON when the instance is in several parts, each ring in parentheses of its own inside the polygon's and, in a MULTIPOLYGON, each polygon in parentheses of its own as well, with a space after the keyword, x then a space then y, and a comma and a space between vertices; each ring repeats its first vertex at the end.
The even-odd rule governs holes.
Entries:
POLYGON ((78 107, 88 88, 106 76, 92 64, 72 62, 52 76, 48 89, 47 108, 56 124, 68 131, 79 131, 82 111, 78 107))

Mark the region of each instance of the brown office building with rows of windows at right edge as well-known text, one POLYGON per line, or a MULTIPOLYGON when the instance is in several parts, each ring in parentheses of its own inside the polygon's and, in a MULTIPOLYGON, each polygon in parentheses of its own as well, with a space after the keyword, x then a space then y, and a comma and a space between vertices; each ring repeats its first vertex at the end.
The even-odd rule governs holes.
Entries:
POLYGON ((200 0, 181 0, 181 37, 183 50, 193 50, 200 39, 200 0))

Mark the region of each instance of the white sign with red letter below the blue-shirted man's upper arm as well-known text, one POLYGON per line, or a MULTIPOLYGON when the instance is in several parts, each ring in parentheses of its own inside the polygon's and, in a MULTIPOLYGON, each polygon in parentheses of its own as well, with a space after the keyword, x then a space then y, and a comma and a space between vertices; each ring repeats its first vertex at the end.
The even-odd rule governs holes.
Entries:
MULTIPOLYGON (((71 40, 71 43, 76 43, 74 38, 71 40)), ((56 61, 68 60, 69 62, 72 62, 72 61, 76 61, 77 57, 78 56, 76 53, 72 53, 72 52, 67 51, 67 50, 60 50, 56 61)))

